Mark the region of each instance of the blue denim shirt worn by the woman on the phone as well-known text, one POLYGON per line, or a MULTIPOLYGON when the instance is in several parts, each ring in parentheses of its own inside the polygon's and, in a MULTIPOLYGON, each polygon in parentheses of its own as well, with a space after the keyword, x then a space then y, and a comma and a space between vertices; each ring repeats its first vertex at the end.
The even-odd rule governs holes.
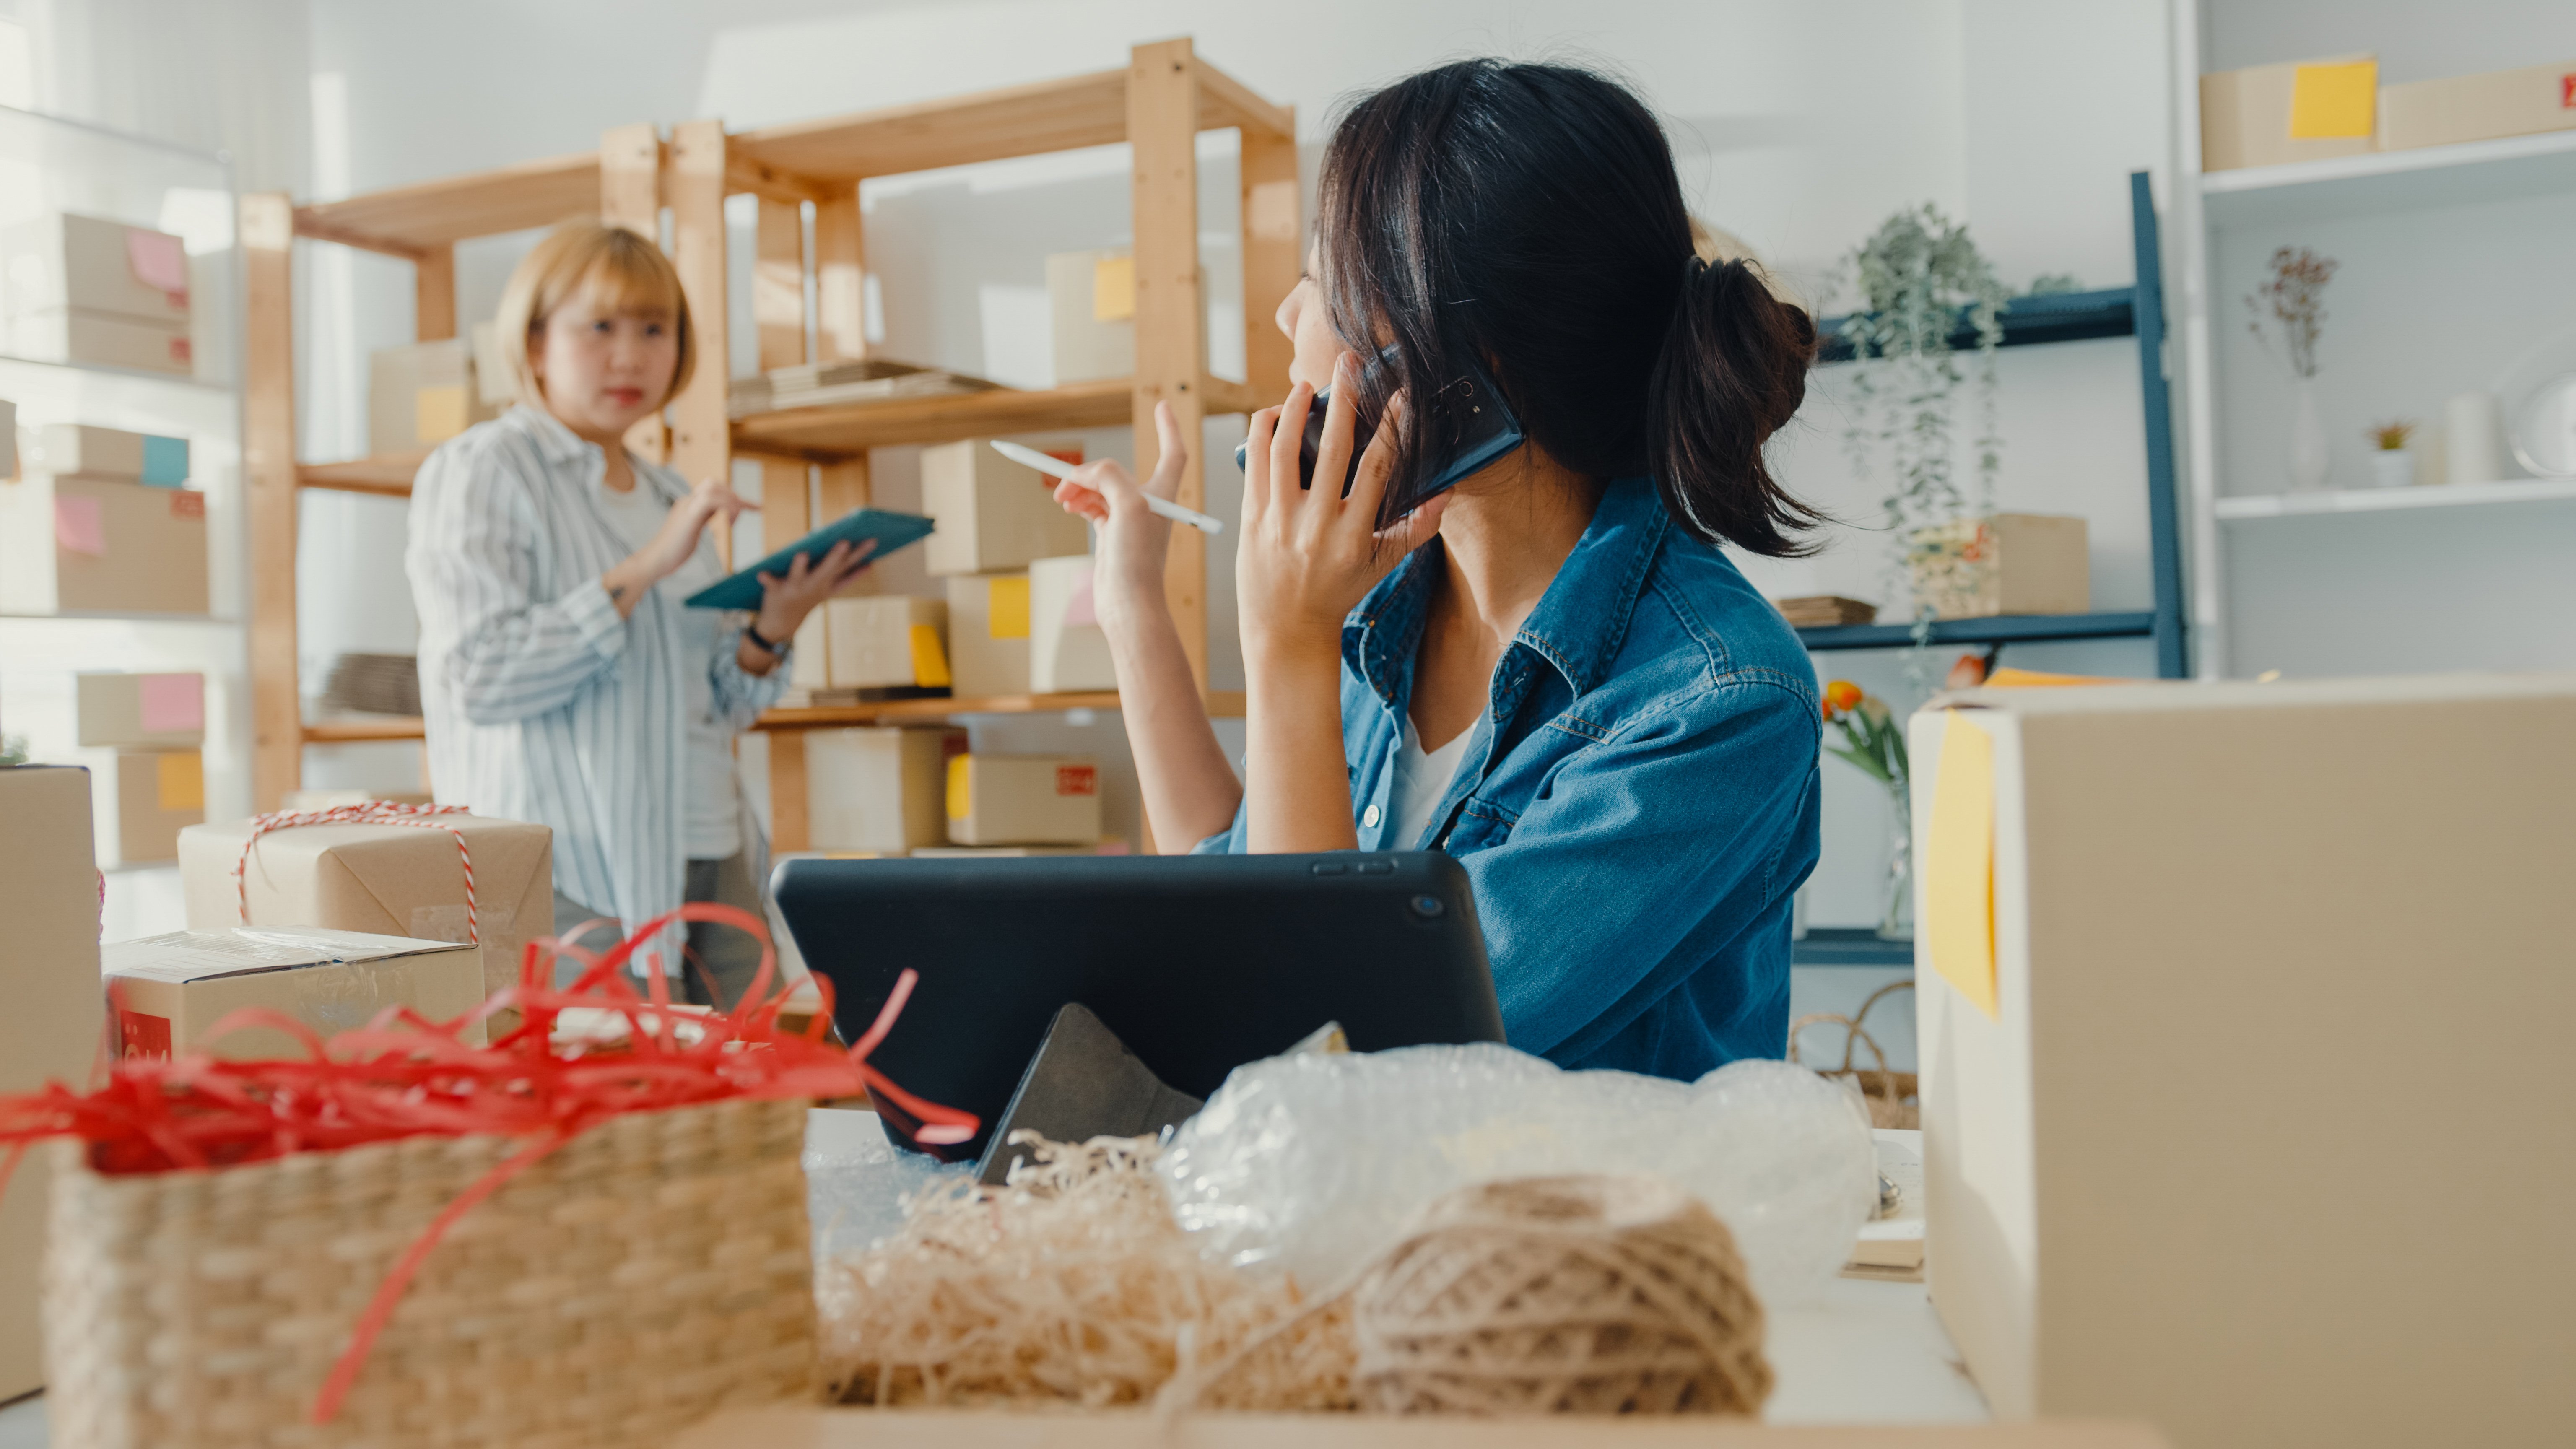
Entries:
MULTIPOLYGON (((1494 665, 1427 833, 1391 841, 1437 547, 1342 624, 1360 848, 1466 866, 1522 1052, 1685 1080, 1783 1055, 1790 895, 1819 828, 1806 647, 1649 480, 1618 480, 1494 665)), ((1198 843, 1244 848, 1242 810, 1198 843)))

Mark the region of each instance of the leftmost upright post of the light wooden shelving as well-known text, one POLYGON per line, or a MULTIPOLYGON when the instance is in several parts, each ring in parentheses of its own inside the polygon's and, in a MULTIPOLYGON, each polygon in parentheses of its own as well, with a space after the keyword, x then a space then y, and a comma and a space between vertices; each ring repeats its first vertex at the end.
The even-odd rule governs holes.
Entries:
POLYGON ((250 807, 276 810, 304 779, 296 681, 296 315, 294 199, 242 196, 242 495, 250 536, 250 807))

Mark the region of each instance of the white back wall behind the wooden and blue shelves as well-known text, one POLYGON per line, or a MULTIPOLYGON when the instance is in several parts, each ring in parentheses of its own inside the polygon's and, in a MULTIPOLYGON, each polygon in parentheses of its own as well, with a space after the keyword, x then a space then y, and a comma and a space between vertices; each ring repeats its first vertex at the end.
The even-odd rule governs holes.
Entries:
MULTIPOLYGON (((2014 286, 2043 271, 2074 271, 2089 286, 2128 284, 2125 178, 2133 168, 2161 170, 2169 134, 2159 0, 2102 0, 2074 13, 2045 0, 1613 0, 1582 10, 1528 0, 1321 0, 1293 15, 1180 0, 469 0, 435 15, 312 0, 312 64, 337 75, 345 95, 345 137, 317 137, 317 152, 337 144, 355 191, 582 150, 621 121, 724 116, 732 126, 757 126, 1105 70, 1126 62, 1128 44, 1175 34, 1195 36, 1206 59, 1298 108, 1311 173, 1334 103, 1355 90, 1466 54, 1566 57, 1638 85, 1672 124, 1692 206, 1747 237, 1806 291, 1888 211, 1919 201, 1965 217, 2014 286), (461 90, 471 103, 459 103, 461 90)), ((1231 224, 1231 150, 1211 137, 1206 232, 1231 224)), ((1041 258, 1115 245, 1128 222, 1115 150, 873 183, 866 204, 871 268, 886 284, 878 317, 886 351, 1010 382, 1043 382, 1030 371, 1043 348, 1010 325, 1033 307, 1041 258)), ((520 245, 502 240, 461 255, 469 309, 497 297, 520 245)), ((1216 273, 1234 258, 1211 248, 1208 263, 1216 273)), ((340 327, 353 333, 350 356, 407 338, 402 268, 368 268, 361 258, 345 286, 340 327)), ((1218 276, 1211 291, 1224 291, 1218 276)), ((1213 322, 1218 358, 1239 348, 1231 338, 1242 325, 1213 322)), ((2102 608, 2148 598, 2133 358, 2130 343, 2002 358, 2002 498, 2092 521, 2102 608)), ((1816 376, 1777 464, 1837 516, 1868 521, 1878 487, 1842 456, 1842 387, 1837 371, 1816 376)), ((337 394, 317 387, 307 397, 307 433, 345 428, 350 397, 348 384, 337 394)), ((335 436, 355 446, 350 433, 335 436)), ((1123 456, 1126 436, 1100 431, 1090 446, 1123 456)), ((1208 446, 1221 456, 1231 436, 1211 428, 1208 446)), ((914 495, 912 459, 909 449, 878 451, 886 505, 914 495)), ((1211 469, 1211 487, 1224 490, 1229 472, 1211 469)), ((407 647, 407 606, 384 588, 399 552, 399 508, 314 498, 307 529, 332 539, 330 562, 312 559, 304 580, 314 663, 348 647, 407 647)), ((1883 598, 1883 559, 1878 536, 1844 529, 1821 559, 1749 559, 1747 572, 1770 593, 1883 598)), ((2151 655, 2136 642, 2030 647, 2014 660, 2151 673, 2151 655)), ((1896 655, 1826 655, 1819 665, 1904 704, 1896 655)), ((1007 722, 989 724, 987 737, 1061 740, 1118 755, 1113 724, 1108 717, 1092 727, 1007 722)), ((410 779, 404 748, 371 750, 374 758, 314 750, 312 773, 410 779)), ((744 761, 755 797, 765 794, 760 750, 747 748, 744 761)), ((1123 773, 1121 761, 1110 779, 1123 773)), ((1886 804, 1837 761, 1826 763, 1826 789, 1829 859, 1811 920, 1865 923, 1875 918, 1886 804)), ((1126 792, 1113 799, 1113 820, 1133 820, 1126 792)))

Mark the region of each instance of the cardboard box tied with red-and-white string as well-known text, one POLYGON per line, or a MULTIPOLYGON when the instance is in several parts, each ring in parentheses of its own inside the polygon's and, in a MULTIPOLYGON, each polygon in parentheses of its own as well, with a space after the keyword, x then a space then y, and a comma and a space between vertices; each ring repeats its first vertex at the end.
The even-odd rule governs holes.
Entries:
POLYGON ((247 820, 198 825, 178 841, 188 928, 317 926, 471 941, 456 833, 474 861, 474 923, 482 928, 482 987, 474 1000, 482 1000, 518 985, 526 944, 554 933, 554 830, 544 825, 433 815, 428 825, 296 825, 258 843, 250 843, 247 820), (234 869, 242 874, 234 877, 234 869))

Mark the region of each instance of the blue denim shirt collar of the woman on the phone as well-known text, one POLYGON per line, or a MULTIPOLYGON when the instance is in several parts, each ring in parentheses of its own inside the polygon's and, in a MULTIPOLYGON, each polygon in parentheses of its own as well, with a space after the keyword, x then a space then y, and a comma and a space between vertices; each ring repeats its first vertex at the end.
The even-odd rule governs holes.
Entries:
MULTIPOLYGON (((1600 686, 1628 637, 1636 598, 1669 529, 1672 516, 1664 513, 1651 480, 1610 480, 1584 536, 1512 637, 1517 645, 1512 652, 1528 650, 1546 660, 1574 696, 1600 686)), ((1414 655, 1422 650, 1437 567, 1440 554, 1432 547, 1414 549, 1342 624, 1342 663, 1391 712, 1412 704, 1414 655)), ((1494 724, 1512 717, 1528 686, 1528 665, 1515 668, 1507 655, 1494 670, 1494 724)))

